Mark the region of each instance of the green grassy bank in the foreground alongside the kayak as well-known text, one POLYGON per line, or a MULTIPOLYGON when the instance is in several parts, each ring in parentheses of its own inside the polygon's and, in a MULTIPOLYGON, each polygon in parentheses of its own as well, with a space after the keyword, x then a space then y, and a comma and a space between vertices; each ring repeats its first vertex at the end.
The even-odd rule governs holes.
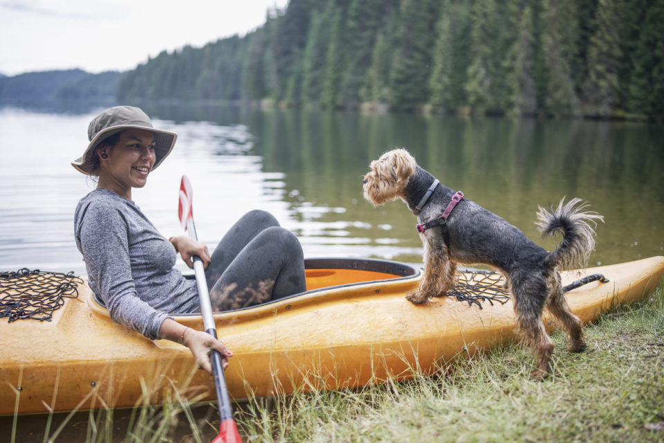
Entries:
MULTIPOLYGON (((528 379, 531 352, 513 343, 440 377, 234 404, 236 420, 245 442, 664 442, 664 282, 585 334, 587 352, 571 354, 553 333, 553 374, 541 383, 528 379)), ((26 441, 209 442, 219 423, 214 407, 178 397, 46 417, 26 441)))

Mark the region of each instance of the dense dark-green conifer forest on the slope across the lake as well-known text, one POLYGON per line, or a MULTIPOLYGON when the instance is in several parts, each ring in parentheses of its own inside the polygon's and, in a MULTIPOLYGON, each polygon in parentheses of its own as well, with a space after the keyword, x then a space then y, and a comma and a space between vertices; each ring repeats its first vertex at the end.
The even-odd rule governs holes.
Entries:
POLYGON ((116 99, 661 121, 663 24, 663 0, 291 0, 116 99))

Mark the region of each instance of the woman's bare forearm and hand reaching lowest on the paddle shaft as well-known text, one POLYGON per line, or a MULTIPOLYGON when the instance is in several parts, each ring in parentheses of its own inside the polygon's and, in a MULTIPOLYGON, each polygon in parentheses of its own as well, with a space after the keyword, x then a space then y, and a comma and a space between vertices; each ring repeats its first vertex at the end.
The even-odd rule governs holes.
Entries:
POLYGON ((188 347, 199 368, 204 369, 210 375, 212 375, 210 350, 219 351, 223 369, 228 367, 228 357, 233 355, 228 347, 207 332, 196 331, 196 329, 181 325, 172 318, 166 318, 161 324, 159 338, 181 343, 188 347))

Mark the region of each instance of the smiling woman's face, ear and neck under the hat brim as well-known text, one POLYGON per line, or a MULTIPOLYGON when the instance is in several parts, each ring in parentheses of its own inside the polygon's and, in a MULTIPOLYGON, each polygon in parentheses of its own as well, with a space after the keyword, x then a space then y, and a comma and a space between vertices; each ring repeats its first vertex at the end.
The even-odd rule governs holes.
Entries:
POLYGON ((131 198, 131 188, 142 188, 156 161, 154 135, 146 129, 125 129, 113 147, 102 147, 99 186, 131 198), (107 159, 102 154, 107 154, 107 159))

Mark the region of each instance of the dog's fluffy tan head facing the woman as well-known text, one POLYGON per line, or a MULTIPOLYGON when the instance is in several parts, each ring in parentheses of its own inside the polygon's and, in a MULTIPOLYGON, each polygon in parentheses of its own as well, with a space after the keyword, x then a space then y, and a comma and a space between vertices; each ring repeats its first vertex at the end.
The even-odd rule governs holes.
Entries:
POLYGON ((382 205, 394 199, 405 200, 405 188, 417 170, 417 163, 407 150, 400 148, 382 154, 371 162, 371 171, 365 174, 365 199, 382 205))

